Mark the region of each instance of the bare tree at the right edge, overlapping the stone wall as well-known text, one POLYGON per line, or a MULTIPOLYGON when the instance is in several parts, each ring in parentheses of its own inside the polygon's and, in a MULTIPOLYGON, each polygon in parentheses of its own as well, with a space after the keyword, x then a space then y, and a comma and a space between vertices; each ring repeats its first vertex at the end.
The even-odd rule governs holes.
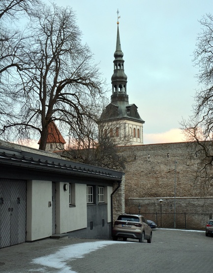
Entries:
POLYGON ((188 141, 192 142, 192 154, 198 156, 195 182, 207 195, 213 191, 213 16, 200 20, 199 33, 194 51, 194 64, 199 68, 196 75, 202 85, 195 93, 193 115, 183 120, 182 127, 188 141))

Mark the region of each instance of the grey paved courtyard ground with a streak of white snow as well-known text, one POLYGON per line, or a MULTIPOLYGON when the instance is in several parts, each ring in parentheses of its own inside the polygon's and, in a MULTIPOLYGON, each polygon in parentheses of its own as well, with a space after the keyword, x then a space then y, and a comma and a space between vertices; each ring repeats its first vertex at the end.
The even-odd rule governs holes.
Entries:
POLYGON ((200 273, 213 261, 205 232, 157 229, 152 243, 46 239, 0 249, 0 273, 200 273))

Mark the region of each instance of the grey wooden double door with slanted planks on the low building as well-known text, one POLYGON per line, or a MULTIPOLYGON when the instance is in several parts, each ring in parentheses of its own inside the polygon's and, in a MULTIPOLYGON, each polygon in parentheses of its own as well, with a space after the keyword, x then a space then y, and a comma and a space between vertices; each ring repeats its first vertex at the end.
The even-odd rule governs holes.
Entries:
POLYGON ((0 248, 26 241, 26 181, 0 179, 0 248))

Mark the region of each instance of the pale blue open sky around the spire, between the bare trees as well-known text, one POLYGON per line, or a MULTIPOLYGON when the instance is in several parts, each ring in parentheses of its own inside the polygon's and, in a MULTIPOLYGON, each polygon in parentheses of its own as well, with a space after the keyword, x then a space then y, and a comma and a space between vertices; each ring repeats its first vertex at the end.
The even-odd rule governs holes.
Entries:
MULTIPOLYGON (((200 88, 193 51, 198 20, 213 13, 212 0, 54 0, 76 11, 77 24, 111 90, 119 9, 129 103, 144 124, 144 144, 184 141, 182 117, 192 114, 200 88)), ((111 91, 108 94, 110 102, 111 91)))

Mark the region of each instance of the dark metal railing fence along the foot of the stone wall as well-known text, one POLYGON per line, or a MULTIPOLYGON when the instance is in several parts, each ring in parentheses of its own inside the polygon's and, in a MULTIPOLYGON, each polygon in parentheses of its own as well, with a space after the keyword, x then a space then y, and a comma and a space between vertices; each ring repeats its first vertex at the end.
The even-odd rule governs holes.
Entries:
MULTIPOLYGON (((138 212, 132 214, 138 214, 138 212)), ((206 223, 213 218, 213 212, 141 212, 140 214, 154 221, 158 228, 191 230, 205 230, 206 223)))

